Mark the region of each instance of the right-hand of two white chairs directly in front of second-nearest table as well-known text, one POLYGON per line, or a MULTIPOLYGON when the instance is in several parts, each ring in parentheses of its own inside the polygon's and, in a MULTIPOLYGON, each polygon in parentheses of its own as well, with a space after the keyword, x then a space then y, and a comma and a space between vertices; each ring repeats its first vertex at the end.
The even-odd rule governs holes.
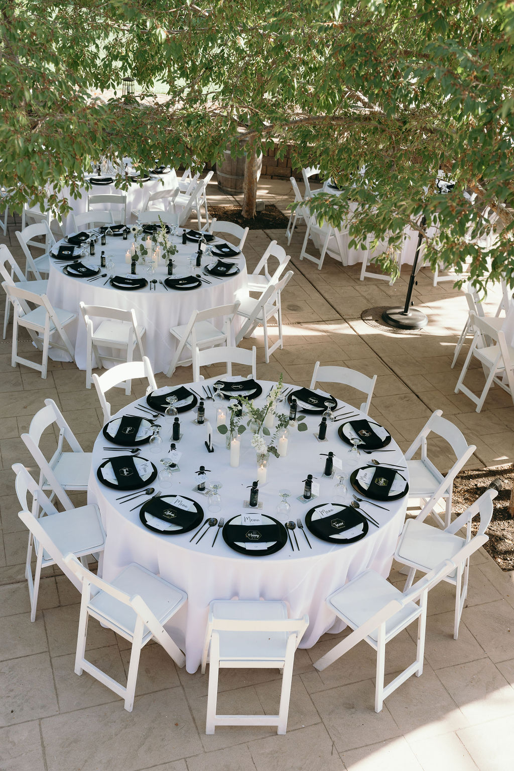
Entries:
POLYGON ((216 308, 207 308, 205 311, 193 311, 187 324, 170 328, 177 344, 167 376, 170 378, 179 364, 184 366, 193 363, 193 369, 195 369, 197 352, 204 348, 213 348, 214 345, 231 345, 233 342, 232 321, 237 308, 239 308, 239 302, 233 302, 230 305, 218 305, 216 308), (214 319, 223 320, 220 322, 221 329, 212 323, 214 319), (184 348, 191 352, 191 358, 179 361, 184 348))

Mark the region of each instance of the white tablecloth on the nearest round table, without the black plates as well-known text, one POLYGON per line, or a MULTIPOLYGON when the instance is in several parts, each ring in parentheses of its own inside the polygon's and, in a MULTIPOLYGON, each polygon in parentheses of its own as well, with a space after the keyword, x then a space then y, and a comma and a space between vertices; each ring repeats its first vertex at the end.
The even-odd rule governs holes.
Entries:
MULTIPOLYGON (((204 383, 210 384, 212 390, 214 380, 207 380, 204 383)), ((256 403, 260 406, 264 404, 265 397, 274 384, 259 382, 263 393, 256 403)), ((192 388, 197 393, 201 393, 200 383, 193 383, 192 388)), ((170 391, 170 388, 162 390, 170 391)), ((123 414, 145 416, 145 412, 137 412, 136 404, 146 404, 146 401, 143 398, 139 402, 133 402, 132 405, 116 413, 116 416, 123 414)), ((214 427, 217 422, 217 408, 221 405, 223 402, 218 400, 206 402, 206 420, 208 419, 214 427)), ((338 402, 338 407, 341 406, 345 406, 344 402, 338 402)), ((278 407, 280 411, 281 406, 278 407)), ((284 407, 284 403, 282 409, 284 411, 288 409, 284 407)), ((358 413, 358 410, 353 412, 358 413)), ((113 416, 113 419, 116 416, 113 416)), ((366 416, 361 415, 361 417, 366 416)), ((240 466, 231 468, 225 436, 214 429, 215 450, 213 453, 208 453, 204 444, 207 438, 206 426, 199 426, 195 421, 196 409, 180 414, 183 437, 180 443, 177 443, 177 449, 182 456, 178 461, 180 471, 173 474, 172 487, 163 488, 158 478, 152 486, 163 493, 180 493, 197 501, 203 507, 205 521, 214 515, 207 508, 207 497, 193 490, 197 485, 195 472, 202 464, 210 469, 207 475, 208 481, 219 480, 223 483, 220 490, 222 510, 216 515, 217 517, 224 517, 227 522, 236 514, 256 512, 256 509, 244 509, 244 500, 248 499, 247 487, 257 478, 256 455, 254 447, 250 446, 250 431, 247 430, 241 436, 240 466)), ((159 460, 170 448, 170 423, 164 418, 159 418, 157 422, 162 426, 161 435, 165 440, 163 451, 154 454, 149 452, 148 445, 143 445, 140 454, 143 458, 152 460, 160 469, 159 460)), ((305 514, 312 506, 331 501, 331 491, 335 481, 322 477, 324 457, 320 457, 319 453, 334 451, 342 460, 344 473, 351 472, 358 466, 364 466, 371 459, 370 455, 361 455, 357 460, 352 460, 348 445, 338 437, 337 429, 341 422, 329 424, 328 441, 324 443, 318 443, 314 436, 320 417, 306 416, 305 422, 308 426, 307 431, 299 432, 296 429, 290 429, 287 456, 281 458, 270 456, 267 481, 260 485, 259 500, 263 504, 262 513, 269 514, 281 522, 288 519, 296 522, 297 518, 301 518, 304 522, 305 514), (313 499, 312 503, 297 500, 298 495, 303 495, 302 480, 307 473, 312 473, 320 483, 320 495, 317 499, 313 499), (276 511, 279 502, 278 492, 284 485, 292 493, 288 499, 291 503, 291 512, 287 516, 278 514, 276 511)), ((287 540, 285 546, 275 554, 252 557, 232 550, 223 540, 222 534, 218 534, 213 546, 217 527, 207 528, 206 536, 199 543, 196 543, 197 539, 190 542, 192 534, 197 529, 180 535, 163 535, 144 527, 139 520, 140 507, 136 506, 133 511, 130 509, 146 498, 124 504, 119 503, 116 497, 120 497, 120 491, 106 487, 97 479, 98 466, 106 457, 109 457, 109 451, 103 449, 108 444, 105 436, 100 433, 93 448, 92 472, 88 487, 89 503, 98 504, 106 527, 107 539, 102 560, 102 575, 107 581, 113 580, 123 567, 136 562, 186 591, 188 601, 170 621, 169 631, 185 651, 188 672, 195 672, 200 665, 208 606, 211 600, 264 598, 287 601, 291 618, 300 618, 303 614, 308 614, 309 626, 301 647, 311 648, 324 632, 329 630, 337 632, 344 627, 325 603, 328 594, 365 568, 371 567, 384 576, 387 576, 390 571, 398 534, 405 519, 408 496, 388 502, 388 510, 376 508, 371 503, 367 503, 365 510, 375 517, 380 527, 370 524, 368 534, 352 544, 329 543, 319 540, 307 531, 308 540, 311 542, 311 548, 309 548, 304 534, 296 529, 294 533, 297 534, 299 550, 296 546, 291 550, 287 540)), ((405 465, 404 456, 394 439, 391 439, 388 449, 394 449, 395 452, 381 456, 378 451, 376 456, 381 460, 387 459, 388 463, 405 465)), ((112 453, 113 456, 121 454, 112 453)), ((351 500, 351 492, 351 486, 348 483, 348 502, 351 500)), ((380 505, 386 506, 383 502, 380 505)))

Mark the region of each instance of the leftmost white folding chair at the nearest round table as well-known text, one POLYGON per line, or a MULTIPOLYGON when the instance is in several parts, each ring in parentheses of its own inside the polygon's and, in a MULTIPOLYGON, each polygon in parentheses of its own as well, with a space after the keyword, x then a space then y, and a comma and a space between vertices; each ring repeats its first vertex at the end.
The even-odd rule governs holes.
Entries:
POLYGON ((98 554, 106 544, 106 534, 102 527, 99 508, 92 503, 77 509, 57 511, 41 487, 21 463, 12 466, 16 474, 16 494, 22 511, 18 517, 29 528, 29 546, 25 563, 25 577, 29 584, 30 620, 35 621, 38 604, 39 581, 43 567, 59 565, 61 570, 80 589, 74 575, 69 574, 63 554, 75 554, 84 557, 86 554, 98 554), (29 496, 32 505, 29 505, 29 496), (42 510, 35 516, 34 510, 42 510), (48 515, 48 516, 45 516, 48 515), (32 575, 32 555, 35 552, 35 571, 32 575))

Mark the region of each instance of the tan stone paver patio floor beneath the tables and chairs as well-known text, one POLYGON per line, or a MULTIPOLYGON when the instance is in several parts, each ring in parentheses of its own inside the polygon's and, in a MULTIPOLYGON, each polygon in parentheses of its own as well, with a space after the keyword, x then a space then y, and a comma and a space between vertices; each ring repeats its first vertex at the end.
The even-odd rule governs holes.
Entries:
MULTIPOLYGON (((213 203, 232 203, 208 190, 213 203)), ((260 196, 284 209, 289 183, 261 180, 260 196)), ((5 243, 15 247, 12 221, 5 243)), ((514 459, 514 407, 510 397, 492 389, 482 412, 454 394, 465 351, 455 370, 453 349, 465 320, 465 301, 452 282, 432 287, 423 270, 415 305, 429 317, 425 331, 392 335, 361 321, 361 311, 375 305, 403 305, 408 271, 389 287, 385 281, 358 280, 359 268, 343 268, 327 258, 324 268, 299 261, 304 227, 291 247, 294 278, 283 297, 284 350, 264 364, 261 338, 258 375, 309 385, 314 362, 348 365, 378 374, 371 415, 407 449, 434 409, 452 419, 477 446, 471 466, 494 466, 514 459)), ((245 255, 250 268, 271 239, 287 244, 284 231, 250 231, 245 255)), ((496 298, 491 299, 496 307, 496 298)), ((3 312, 3 297, 2 308, 3 312)), ((30 352, 30 346, 24 345, 30 352)), ((213 369, 213 374, 216 370, 213 369)), ((157 375, 164 385, 164 375, 157 375)), ((192 379, 180 368, 173 383, 192 379)), ((481 369, 470 374, 479 389, 481 369)), ((91 449, 101 428, 96 392, 86 391, 85 375, 72 363, 52 362, 42 380, 38 372, 12 369, 10 341, 0 348, 0 453, 2 469, 2 541, 0 543, 0 769, 2 771, 368 771, 408 769, 506 771, 512 767, 514 730, 514 582, 481 550, 472 559, 469 597, 459 640, 452 638, 455 591, 440 584, 430 594, 425 669, 373 709, 375 654, 361 643, 324 672, 312 667, 340 635, 324 635, 310 650, 297 651, 286 736, 272 728, 218 728, 206 736, 207 676, 175 668, 159 645, 143 649, 132 713, 113 692, 89 677, 73 673, 79 594, 59 571, 42 580, 34 624, 24 578, 27 536, 18 520, 12 463, 31 466, 19 439, 45 398, 55 399, 82 447, 91 449), (512 630, 512 631, 511 631, 512 630)), ((135 384, 136 396, 143 392, 135 384)), ((341 389, 338 396, 354 401, 341 389)), ((121 392, 115 406, 127 399, 121 392)), ((49 444, 51 439, 48 440, 49 444)), ((438 466, 449 456, 444 443, 432 443, 438 466)), ((76 496, 77 503, 84 496, 76 496)), ((391 581, 404 577, 393 569, 391 581)), ((343 633, 344 635, 345 633, 343 633)), ((415 627, 388 645, 387 675, 392 678, 414 658, 415 627)), ((89 655, 122 677, 129 651, 112 631, 90 622, 89 655)), ((272 670, 223 670, 220 709, 274 711, 279 677, 272 670)))

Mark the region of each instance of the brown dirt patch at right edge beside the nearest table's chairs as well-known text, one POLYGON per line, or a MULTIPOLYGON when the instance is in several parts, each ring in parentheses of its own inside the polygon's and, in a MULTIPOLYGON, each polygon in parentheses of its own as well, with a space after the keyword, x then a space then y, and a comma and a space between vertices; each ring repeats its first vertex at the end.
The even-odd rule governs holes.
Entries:
POLYGON ((459 473, 453 484, 453 510, 456 513, 465 511, 496 479, 501 480, 502 490, 493 501, 492 520, 487 530, 489 540, 484 548, 502 571, 514 571, 514 518, 509 514, 514 465, 509 463, 459 473))

